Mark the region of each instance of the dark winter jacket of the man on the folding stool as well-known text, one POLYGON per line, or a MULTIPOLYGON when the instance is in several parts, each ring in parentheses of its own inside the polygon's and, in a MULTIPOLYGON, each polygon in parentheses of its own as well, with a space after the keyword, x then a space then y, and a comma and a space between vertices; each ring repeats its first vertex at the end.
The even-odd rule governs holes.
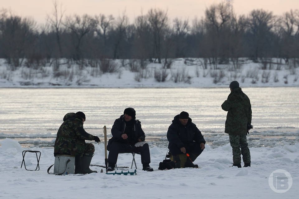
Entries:
POLYGON ((130 131, 125 132, 126 122, 124 119, 124 115, 121 115, 120 118, 114 121, 114 124, 111 128, 112 138, 109 139, 107 144, 107 150, 110 150, 110 145, 112 142, 121 142, 130 145, 135 145, 136 142, 140 139, 141 141, 145 141, 145 134, 141 128, 141 122, 137 119, 132 119, 132 129, 130 131), (128 138, 124 140, 121 135, 127 134, 128 138))

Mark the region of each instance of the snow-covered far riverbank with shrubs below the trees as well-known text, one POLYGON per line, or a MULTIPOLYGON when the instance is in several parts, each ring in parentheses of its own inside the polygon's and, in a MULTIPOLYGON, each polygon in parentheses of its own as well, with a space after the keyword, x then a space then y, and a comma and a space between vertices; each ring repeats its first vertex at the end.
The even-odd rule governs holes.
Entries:
POLYGON ((164 82, 158 82, 154 77, 155 71, 161 72, 163 63, 149 63, 146 69, 131 72, 129 60, 111 62, 115 64, 116 72, 102 73, 99 67, 93 68, 88 64, 79 70, 78 64, 69 65, 66 60, 61 60, 64 64, 56 71, 53 71, 54 64, 50 66, 50 63, 36 67, 38 69, 22 66, 12 71, 6 60, 0 59, 0 87, 209 88, 227 87, 233 80, 239 81, 242 87, 299 86, 298 68, 284 62, 279 65, 280 60, 277 59, 272 60, 271 67, 267 65, 268 70, 261 69, 262 63, 245 58, 240 60, 240 69, 233 69, 231 63, 219 64, 214 70, 212 64, 203 69, 201 58, 178 58, 166 70, 168 75, 164 82))

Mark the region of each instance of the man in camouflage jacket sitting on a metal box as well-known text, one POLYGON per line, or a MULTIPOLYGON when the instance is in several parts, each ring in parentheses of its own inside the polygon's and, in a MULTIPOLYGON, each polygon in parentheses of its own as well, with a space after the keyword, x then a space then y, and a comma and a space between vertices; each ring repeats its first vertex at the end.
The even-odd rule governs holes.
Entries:
POLYGON ((54 145, 54 156, 75 156, 75 174, 97 173, 89 169, 94 146, 91 143, 86 144, 85 140, 100 142, 100 139, 84 130, 85 119, 85 114, 81 111, 67 113, 63 118, 64 123, 58 129, 54 145))

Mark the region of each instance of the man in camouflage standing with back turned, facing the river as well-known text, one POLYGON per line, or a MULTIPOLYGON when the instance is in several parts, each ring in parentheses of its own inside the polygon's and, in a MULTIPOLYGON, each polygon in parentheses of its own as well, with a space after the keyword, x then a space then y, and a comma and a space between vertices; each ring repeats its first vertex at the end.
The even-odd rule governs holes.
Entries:
POLYGON ((246 135, 251 126, 250 100, 239 87, 239 82, 230 83, 230 95, 221 105, 227 112, 225 121, 225 133, 230 136, 230 146, 233 151, 233 166, 241 167, 241 154, 244 167, 250 167, 250 151, 246 135), (240 150, 241 148, 241 150, 240 150))

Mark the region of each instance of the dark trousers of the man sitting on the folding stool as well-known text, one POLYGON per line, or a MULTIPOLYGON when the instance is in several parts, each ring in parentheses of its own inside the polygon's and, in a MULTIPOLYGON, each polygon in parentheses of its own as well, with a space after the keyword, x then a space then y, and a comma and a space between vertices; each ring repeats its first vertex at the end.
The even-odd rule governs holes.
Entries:
POLYGON ((112 142, 109 147, 108 164, 116 164, 119 153, 137 153, 141 155, 141 163, 143 166, 150 164, 150 147, 144 144, 140 147, 131 146, 120 142, 112 142))

